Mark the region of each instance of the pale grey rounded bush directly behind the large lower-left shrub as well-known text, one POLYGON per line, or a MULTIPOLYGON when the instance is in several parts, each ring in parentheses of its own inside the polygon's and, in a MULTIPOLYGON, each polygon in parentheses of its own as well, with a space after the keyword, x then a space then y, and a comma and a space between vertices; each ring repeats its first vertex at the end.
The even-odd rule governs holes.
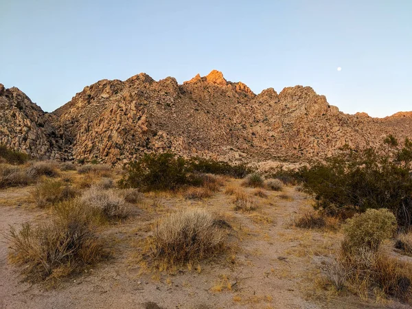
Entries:
POLYGON ((103 220, 124 219, 130 214, 130 209, 121 196, 113 190, 102 190, 91 187, 82 194, 80 201, 91 207, 103 220))

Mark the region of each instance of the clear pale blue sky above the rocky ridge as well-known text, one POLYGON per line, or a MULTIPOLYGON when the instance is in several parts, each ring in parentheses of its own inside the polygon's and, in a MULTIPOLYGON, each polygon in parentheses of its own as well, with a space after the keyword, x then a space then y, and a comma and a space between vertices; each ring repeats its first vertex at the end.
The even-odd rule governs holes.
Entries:
POLYGON ((222 71, 345 113, 412 111, 412 1, 0 0, 0 82, 45 111, 98 80, 222 71), (337 71, 341 67, 341 71, 337 71))

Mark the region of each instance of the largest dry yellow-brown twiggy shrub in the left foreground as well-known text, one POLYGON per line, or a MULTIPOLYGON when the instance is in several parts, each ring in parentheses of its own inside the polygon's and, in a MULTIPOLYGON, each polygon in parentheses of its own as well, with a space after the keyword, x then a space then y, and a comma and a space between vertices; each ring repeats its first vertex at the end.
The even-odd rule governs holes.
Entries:
POLYGON ((93 229, 70 213, 45 225, 25 223, 20 231, 11 228, 8 239, 11 260, 24 266, 22 273, 32 282, 80 273, 104 255, 93 229))

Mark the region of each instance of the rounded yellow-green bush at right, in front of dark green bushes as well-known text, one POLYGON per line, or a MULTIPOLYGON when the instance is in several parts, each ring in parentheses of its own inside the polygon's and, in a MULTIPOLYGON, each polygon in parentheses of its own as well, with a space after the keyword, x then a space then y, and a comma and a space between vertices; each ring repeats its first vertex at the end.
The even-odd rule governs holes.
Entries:
POLYGON ((396 218, 388 209, 367 209, 347 219, 343 225, 343 250, 356 251, 366 247, 378 250, 380 242, 393 236, 396 230, 396 218))

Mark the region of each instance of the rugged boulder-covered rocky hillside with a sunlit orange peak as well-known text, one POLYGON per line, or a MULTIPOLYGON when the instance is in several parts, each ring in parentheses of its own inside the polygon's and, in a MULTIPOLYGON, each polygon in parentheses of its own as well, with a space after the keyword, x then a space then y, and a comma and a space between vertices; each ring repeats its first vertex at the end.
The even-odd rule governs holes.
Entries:
POLYGON ((377 146, 388 134, 412 138, 412 113, 347 115, 310 87, 255 95, 219 71, 183 84, 174 78, 156 82, 145 73, 124 82, 100 80, 52 114, 18 89, 3 89, 0 113, 9 119, 0 120, 3 144, 36 157, 109 163, 166 150, 225 160, 300 161, 333 155, 344 144, 377 146))

